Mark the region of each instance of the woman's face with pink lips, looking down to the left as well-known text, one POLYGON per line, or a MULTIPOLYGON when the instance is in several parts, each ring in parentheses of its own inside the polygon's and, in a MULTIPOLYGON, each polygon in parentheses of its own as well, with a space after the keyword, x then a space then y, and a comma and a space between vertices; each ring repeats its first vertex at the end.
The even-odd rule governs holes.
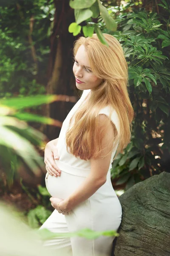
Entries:
POLYGON ((73 73, 76 79, 76 86, 79 90, 93 89, 102 82, 102 79, 97 78, 92 72, 83 44, 77 50, 73 73))

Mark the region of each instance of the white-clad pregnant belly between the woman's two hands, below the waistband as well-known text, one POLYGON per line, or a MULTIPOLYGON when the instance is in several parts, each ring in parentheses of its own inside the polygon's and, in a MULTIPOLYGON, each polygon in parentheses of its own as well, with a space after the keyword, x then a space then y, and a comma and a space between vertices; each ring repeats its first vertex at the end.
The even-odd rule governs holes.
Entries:
POLYGON ((64 171, 58 177, 51 176, 48 173, 45 176, 46 188, 50 195, 62 199, 71 195, 84 180, 85 177, 71 175, 64 171))

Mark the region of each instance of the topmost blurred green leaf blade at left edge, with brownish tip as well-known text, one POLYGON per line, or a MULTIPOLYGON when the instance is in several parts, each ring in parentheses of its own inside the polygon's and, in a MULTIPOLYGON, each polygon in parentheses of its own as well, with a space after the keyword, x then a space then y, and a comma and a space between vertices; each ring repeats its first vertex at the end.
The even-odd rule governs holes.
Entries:
POLYGON ((36 95, 23 98, 15 97, 10 99, 0 99, 0 105, 6 105, 14 109, 31 108, 45 103, 54 102, 58 99, 57 95, 36 95))

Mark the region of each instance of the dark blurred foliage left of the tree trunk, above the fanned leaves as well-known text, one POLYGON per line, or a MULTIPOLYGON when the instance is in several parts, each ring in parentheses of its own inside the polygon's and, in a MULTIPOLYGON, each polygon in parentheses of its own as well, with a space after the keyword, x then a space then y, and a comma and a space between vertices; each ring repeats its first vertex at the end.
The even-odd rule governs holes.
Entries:
POLYGON ((54 10, 52 0, 0 6, 0 97, 45 93, 54 10))

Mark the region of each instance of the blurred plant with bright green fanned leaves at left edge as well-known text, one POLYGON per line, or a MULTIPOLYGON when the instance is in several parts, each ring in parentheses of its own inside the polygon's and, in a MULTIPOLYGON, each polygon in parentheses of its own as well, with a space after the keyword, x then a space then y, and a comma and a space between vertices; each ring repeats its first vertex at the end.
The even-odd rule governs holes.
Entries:
POLYGON ((20 163, 25 163, 35 175, 44 168, 42 157, 35 146, 42 145, 45 135, 25 121, 55 125, 56 120, 27 113, 23 110, 57 100, 56 95, 37 95, 0 99, 0 162, 11 186, 20 163), (23 121, 24 120, 24 121, 23 121))

